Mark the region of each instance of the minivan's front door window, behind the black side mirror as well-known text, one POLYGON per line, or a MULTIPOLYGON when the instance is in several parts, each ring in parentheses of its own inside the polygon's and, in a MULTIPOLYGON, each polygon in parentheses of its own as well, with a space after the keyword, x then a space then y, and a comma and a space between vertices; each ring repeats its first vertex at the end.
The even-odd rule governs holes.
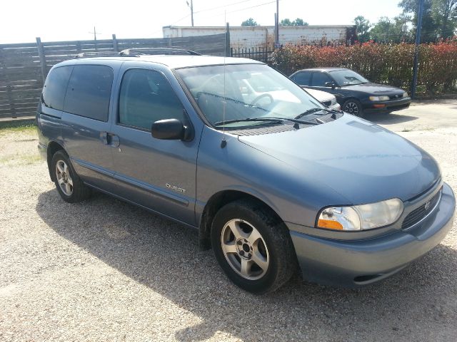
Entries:
POLYGON ((131 69, 124 73, 119 95, 119 123, 146 130, 157 120, 184 121, 184 107, 161 73, 131 69))

